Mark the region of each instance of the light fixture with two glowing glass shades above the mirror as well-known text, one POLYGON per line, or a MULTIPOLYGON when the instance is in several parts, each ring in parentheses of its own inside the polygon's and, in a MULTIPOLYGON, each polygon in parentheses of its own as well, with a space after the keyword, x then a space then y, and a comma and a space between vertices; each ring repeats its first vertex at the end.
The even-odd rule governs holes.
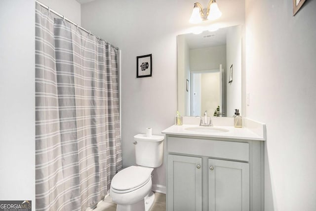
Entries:
POLYGON ((199 2, 194 3, 193 11, 190 23, 200 23, 202 20, 215 20, 222 16, 222 12, 219 10, 216 0, 210 0, 206 8, 206 17, 203 11, 203 7, 199 2))

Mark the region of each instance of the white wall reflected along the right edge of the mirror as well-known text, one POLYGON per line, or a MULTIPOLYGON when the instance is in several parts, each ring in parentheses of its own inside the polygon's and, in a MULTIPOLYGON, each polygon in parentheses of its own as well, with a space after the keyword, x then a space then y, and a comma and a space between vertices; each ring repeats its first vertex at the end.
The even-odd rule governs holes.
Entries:
POLYGON ((226 37, 227 69, 226 69, 226 94, 227 94, 227 117, 234 115, 235 109, 241 108, 241 26, 230 27, 226 37), (233 64, 233 82, 229 82, 230 69, 233 64))

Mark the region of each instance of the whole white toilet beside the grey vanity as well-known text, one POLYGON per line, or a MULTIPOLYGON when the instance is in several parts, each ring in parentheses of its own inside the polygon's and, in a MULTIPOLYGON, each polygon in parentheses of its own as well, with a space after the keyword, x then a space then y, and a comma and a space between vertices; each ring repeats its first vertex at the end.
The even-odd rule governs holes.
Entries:
POLYGON ((152 171, 163 161, 162 135, 134 136, 136 164, 119 171, 112 179, 110 196, 117 211, 149 211, 155 199, 152 171))

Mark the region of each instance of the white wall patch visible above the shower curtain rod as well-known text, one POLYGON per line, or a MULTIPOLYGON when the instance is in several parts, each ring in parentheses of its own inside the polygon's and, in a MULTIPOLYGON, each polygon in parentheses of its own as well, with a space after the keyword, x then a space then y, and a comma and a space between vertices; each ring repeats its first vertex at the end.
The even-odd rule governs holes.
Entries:
POLYGON ((81 5, 76 0, 39 0, 69 20, 81 25, 81 5))

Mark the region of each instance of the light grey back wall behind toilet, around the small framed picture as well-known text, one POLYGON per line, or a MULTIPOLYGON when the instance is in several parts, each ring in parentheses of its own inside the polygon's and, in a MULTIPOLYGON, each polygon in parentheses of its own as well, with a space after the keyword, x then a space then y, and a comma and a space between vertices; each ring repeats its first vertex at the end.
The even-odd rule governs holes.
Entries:
MULTIPOLYGON (((199 1, 207 5, 208 0, 199 1)), ((121 49, 123 166, 135 164, 133 136, 174 124, 177 111, 177 35, 190 31, 193 1, 96 0, 81 5, 81 24, 121 49), (93 11, 93 15, 91 14, 93 11), (153 54, 153 77, 136 79, 136 56, 153 54)), ((242 24, 243 0, 218 2, 223 26, 242 24), (234 18, 233 18, 234 17, 234 18)), ((210 22, 209 22, 210 24, 210 22)), ((164 165, 154 184, 165 185, 164 165)))

